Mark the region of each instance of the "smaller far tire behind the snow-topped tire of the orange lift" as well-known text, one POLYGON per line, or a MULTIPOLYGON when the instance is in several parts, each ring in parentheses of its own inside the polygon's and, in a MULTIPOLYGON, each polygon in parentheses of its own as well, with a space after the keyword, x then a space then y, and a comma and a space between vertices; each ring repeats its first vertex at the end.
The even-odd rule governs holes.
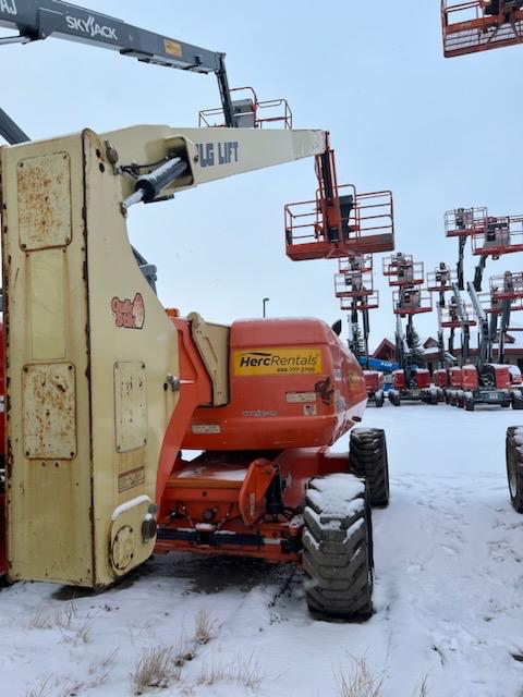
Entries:
POLYGON ((389 505, 389 461, 384 429, 353 428, 349 462, 351 472, 365 478, 370 504, 380 509, 389 505))

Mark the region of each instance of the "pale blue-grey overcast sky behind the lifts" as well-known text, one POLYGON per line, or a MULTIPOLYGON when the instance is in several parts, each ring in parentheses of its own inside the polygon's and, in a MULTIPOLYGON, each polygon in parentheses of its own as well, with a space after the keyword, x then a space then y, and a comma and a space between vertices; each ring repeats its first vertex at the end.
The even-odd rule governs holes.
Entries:
MULTIPOLYGON (((252 85, 260 99, 283 96, 295 127, 330 131, 340 183, 392 189, 397 249, 425 261, 426 271, 440 260, 455 262, 457 242, 443 235, 445 210, 523 212, 523 46, 443 59, 439 0, 78 4, 224 51, 231 86, 252 85)), ((57 39, 0 50, 1 106, 34 138, 85 126, 191 126, 200 108, 219 105, 214 76, 57 39)), ((315 188, 312 160, 212 183, 174 201, 136 206, 131 240, 158 266, 165 305, 184 314, 230 322, 260 315, 268 296, 269 315, 331 323, 341 316, 337 264, 284 255, 283 206, 312 198, 315 188)), ((521 268, 520 259, 489 261, 485 286, 490 271, 521 268)), ((394 327, 380 257, 375 266, 381 307, 372 313, 372 346, 394 327)), ((470 252, 466 273, 472 278, 470 252)), ((416 326, 434 334, 436 313, 416 326)))

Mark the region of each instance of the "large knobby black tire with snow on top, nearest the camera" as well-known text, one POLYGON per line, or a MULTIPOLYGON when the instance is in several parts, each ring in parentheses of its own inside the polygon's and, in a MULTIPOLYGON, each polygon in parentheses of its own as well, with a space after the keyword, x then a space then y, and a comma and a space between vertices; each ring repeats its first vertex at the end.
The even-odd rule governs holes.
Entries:
POLYGON ((365 481, 350 474, 308 484, 303 533, 305 592, 320 620, 363 622, 373 614, 373 528, 365 481))

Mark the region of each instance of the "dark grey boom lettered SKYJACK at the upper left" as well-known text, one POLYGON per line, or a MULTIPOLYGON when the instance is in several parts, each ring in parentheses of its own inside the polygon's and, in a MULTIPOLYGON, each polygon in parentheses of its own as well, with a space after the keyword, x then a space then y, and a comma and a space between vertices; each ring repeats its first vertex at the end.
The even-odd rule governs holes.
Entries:
MULTIPOLYGON (((1 37, 0 46, 31 44, 51 36, 118 51, 121 56, 135 58, 143 63, 178 68, 194 73, 215 73, 226 125, 235 126, 224 53, 155 34, 107 14, 60 0, 2 0, 0 26, 17 32, 16 35, 1 37)), ((29 139, 1 109, 0 135, 10 144, 29 139)))

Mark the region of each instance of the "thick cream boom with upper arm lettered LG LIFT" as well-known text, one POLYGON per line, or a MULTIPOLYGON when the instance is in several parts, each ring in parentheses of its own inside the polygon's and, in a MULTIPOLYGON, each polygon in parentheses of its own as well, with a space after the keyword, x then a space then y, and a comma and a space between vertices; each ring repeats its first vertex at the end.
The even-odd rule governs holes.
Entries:
MULTIPOLYGON (((11 579, 102 587, 147 559, 192 414, 230 399, 229 329, 161 306, 129 244, 132 206, 325 148, 320 131, 136 126, 0 150, 11 579)), ((308 393, 320 354, 293 354, 308 393)), ((317 432, 351 423, 326 414, 317 432)))

